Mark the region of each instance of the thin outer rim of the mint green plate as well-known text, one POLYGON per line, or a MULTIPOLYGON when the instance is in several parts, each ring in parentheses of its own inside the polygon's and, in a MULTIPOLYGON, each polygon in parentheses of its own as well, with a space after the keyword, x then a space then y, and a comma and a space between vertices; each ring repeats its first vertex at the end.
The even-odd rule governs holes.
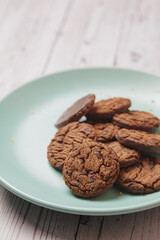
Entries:
MULTIPOLYGON (((137 74, 143 74, 143 75, 149 75, 150 77, 156 77, 160 78, 160 76, 152 73, 148 73, 145 71, 139 71, 139 70, 134 70, 134 69, 129 69, 129 68, 118 68, 118 67, 90 67, 90 68, 75 68, 75 69, 67 69, 64 71, 58 71, 54 72, 51 74, 44 75, 42 77, 35 78, 25 84, 22 84, 21 86, 15 88, 13 91, 9 92, 7 95, 5 95, 1 100, 0 104, 8 98, 10 95, 15 94, 17 91, 21 91, 22 88, 25 88, 26 86, 33 84, 35 82, 38 82, 40 80, 43 80, 44 78, 52 77, 53 75, 59 75, 59 74, 65 74, 69 72, 77 72, 77 71, 92 71, 92 70, 110 70, 110 71, 122 71, 122 72, 133 72, 137 74)), ((133 212, 139 212, 147 209, 151 209, 154 207, 157 207, 160 205, 160 200, 150 200, 147 201, 146 203, 141 203, 141 204, 135 204, 133 206, 129 207, 121 207, 121 208, 105 208, 105 209, 98 209, 98 208, 84 208, 84 207, 70 207, 65 204, 57 204, 57 203, 51 203, 48 201, 44 201, 42 199, 36 198, 32 195, 29 195, 18 188, 14 187, 12 184, 8 183, 4 178, 0 176, 0 184, 15 194, 16 196, 21 197, 24 200, 27 200, 31 203, 34 203, 38 206, 45 207, 48 209, 56 210, 59 212, 65 212, 65 213, 71 213, 71 214, 81 214, 81 215, 92 215, 92 216, 109 216, 109 215, 120 215, 120 214, 128 214, 128 213, 133 213, 133 212)))

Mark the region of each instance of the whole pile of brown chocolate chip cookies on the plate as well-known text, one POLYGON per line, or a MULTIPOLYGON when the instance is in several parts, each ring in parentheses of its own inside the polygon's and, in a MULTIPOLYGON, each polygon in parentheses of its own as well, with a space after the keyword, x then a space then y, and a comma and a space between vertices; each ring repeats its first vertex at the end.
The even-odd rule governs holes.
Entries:
POLYGON ((58 119, 60 127, 48 146, 50 164, 62 170, 71 191, 81 197, 104 193, 115 183, 124 191, 144 194, 160 189, 160 121, 153 114, 130 111, 130 99, 95 103, 89 94, 58 119), (86 116, 85 122, 80 122, 86 116))

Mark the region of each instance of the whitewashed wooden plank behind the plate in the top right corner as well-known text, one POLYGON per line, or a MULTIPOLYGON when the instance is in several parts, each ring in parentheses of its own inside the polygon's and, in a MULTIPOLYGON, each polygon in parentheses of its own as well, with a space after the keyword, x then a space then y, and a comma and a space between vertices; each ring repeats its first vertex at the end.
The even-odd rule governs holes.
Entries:
POLYGON ((116 65, 160 74, 160 1, 133 0, 116 53, 116 65))

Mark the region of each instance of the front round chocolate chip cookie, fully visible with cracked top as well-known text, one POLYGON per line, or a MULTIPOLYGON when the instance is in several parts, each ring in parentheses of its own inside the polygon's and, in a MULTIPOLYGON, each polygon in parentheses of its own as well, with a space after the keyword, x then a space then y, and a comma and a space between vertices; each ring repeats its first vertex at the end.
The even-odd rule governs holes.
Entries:
POLYGON ((112 187, 119 174, 114 151, 102 143, 84 141, 72 149, 63 167, 63 179, 77 196, 95 197, 112 187))

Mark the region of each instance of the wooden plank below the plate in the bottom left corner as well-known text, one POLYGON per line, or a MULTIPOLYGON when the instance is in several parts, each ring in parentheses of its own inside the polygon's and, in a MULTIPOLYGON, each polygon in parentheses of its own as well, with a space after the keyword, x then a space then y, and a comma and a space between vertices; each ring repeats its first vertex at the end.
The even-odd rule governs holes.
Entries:
POLYGON ((78 215, 44 209, 4 192, 4 202, 0 204, 0 239, 74 238, 78 215))

